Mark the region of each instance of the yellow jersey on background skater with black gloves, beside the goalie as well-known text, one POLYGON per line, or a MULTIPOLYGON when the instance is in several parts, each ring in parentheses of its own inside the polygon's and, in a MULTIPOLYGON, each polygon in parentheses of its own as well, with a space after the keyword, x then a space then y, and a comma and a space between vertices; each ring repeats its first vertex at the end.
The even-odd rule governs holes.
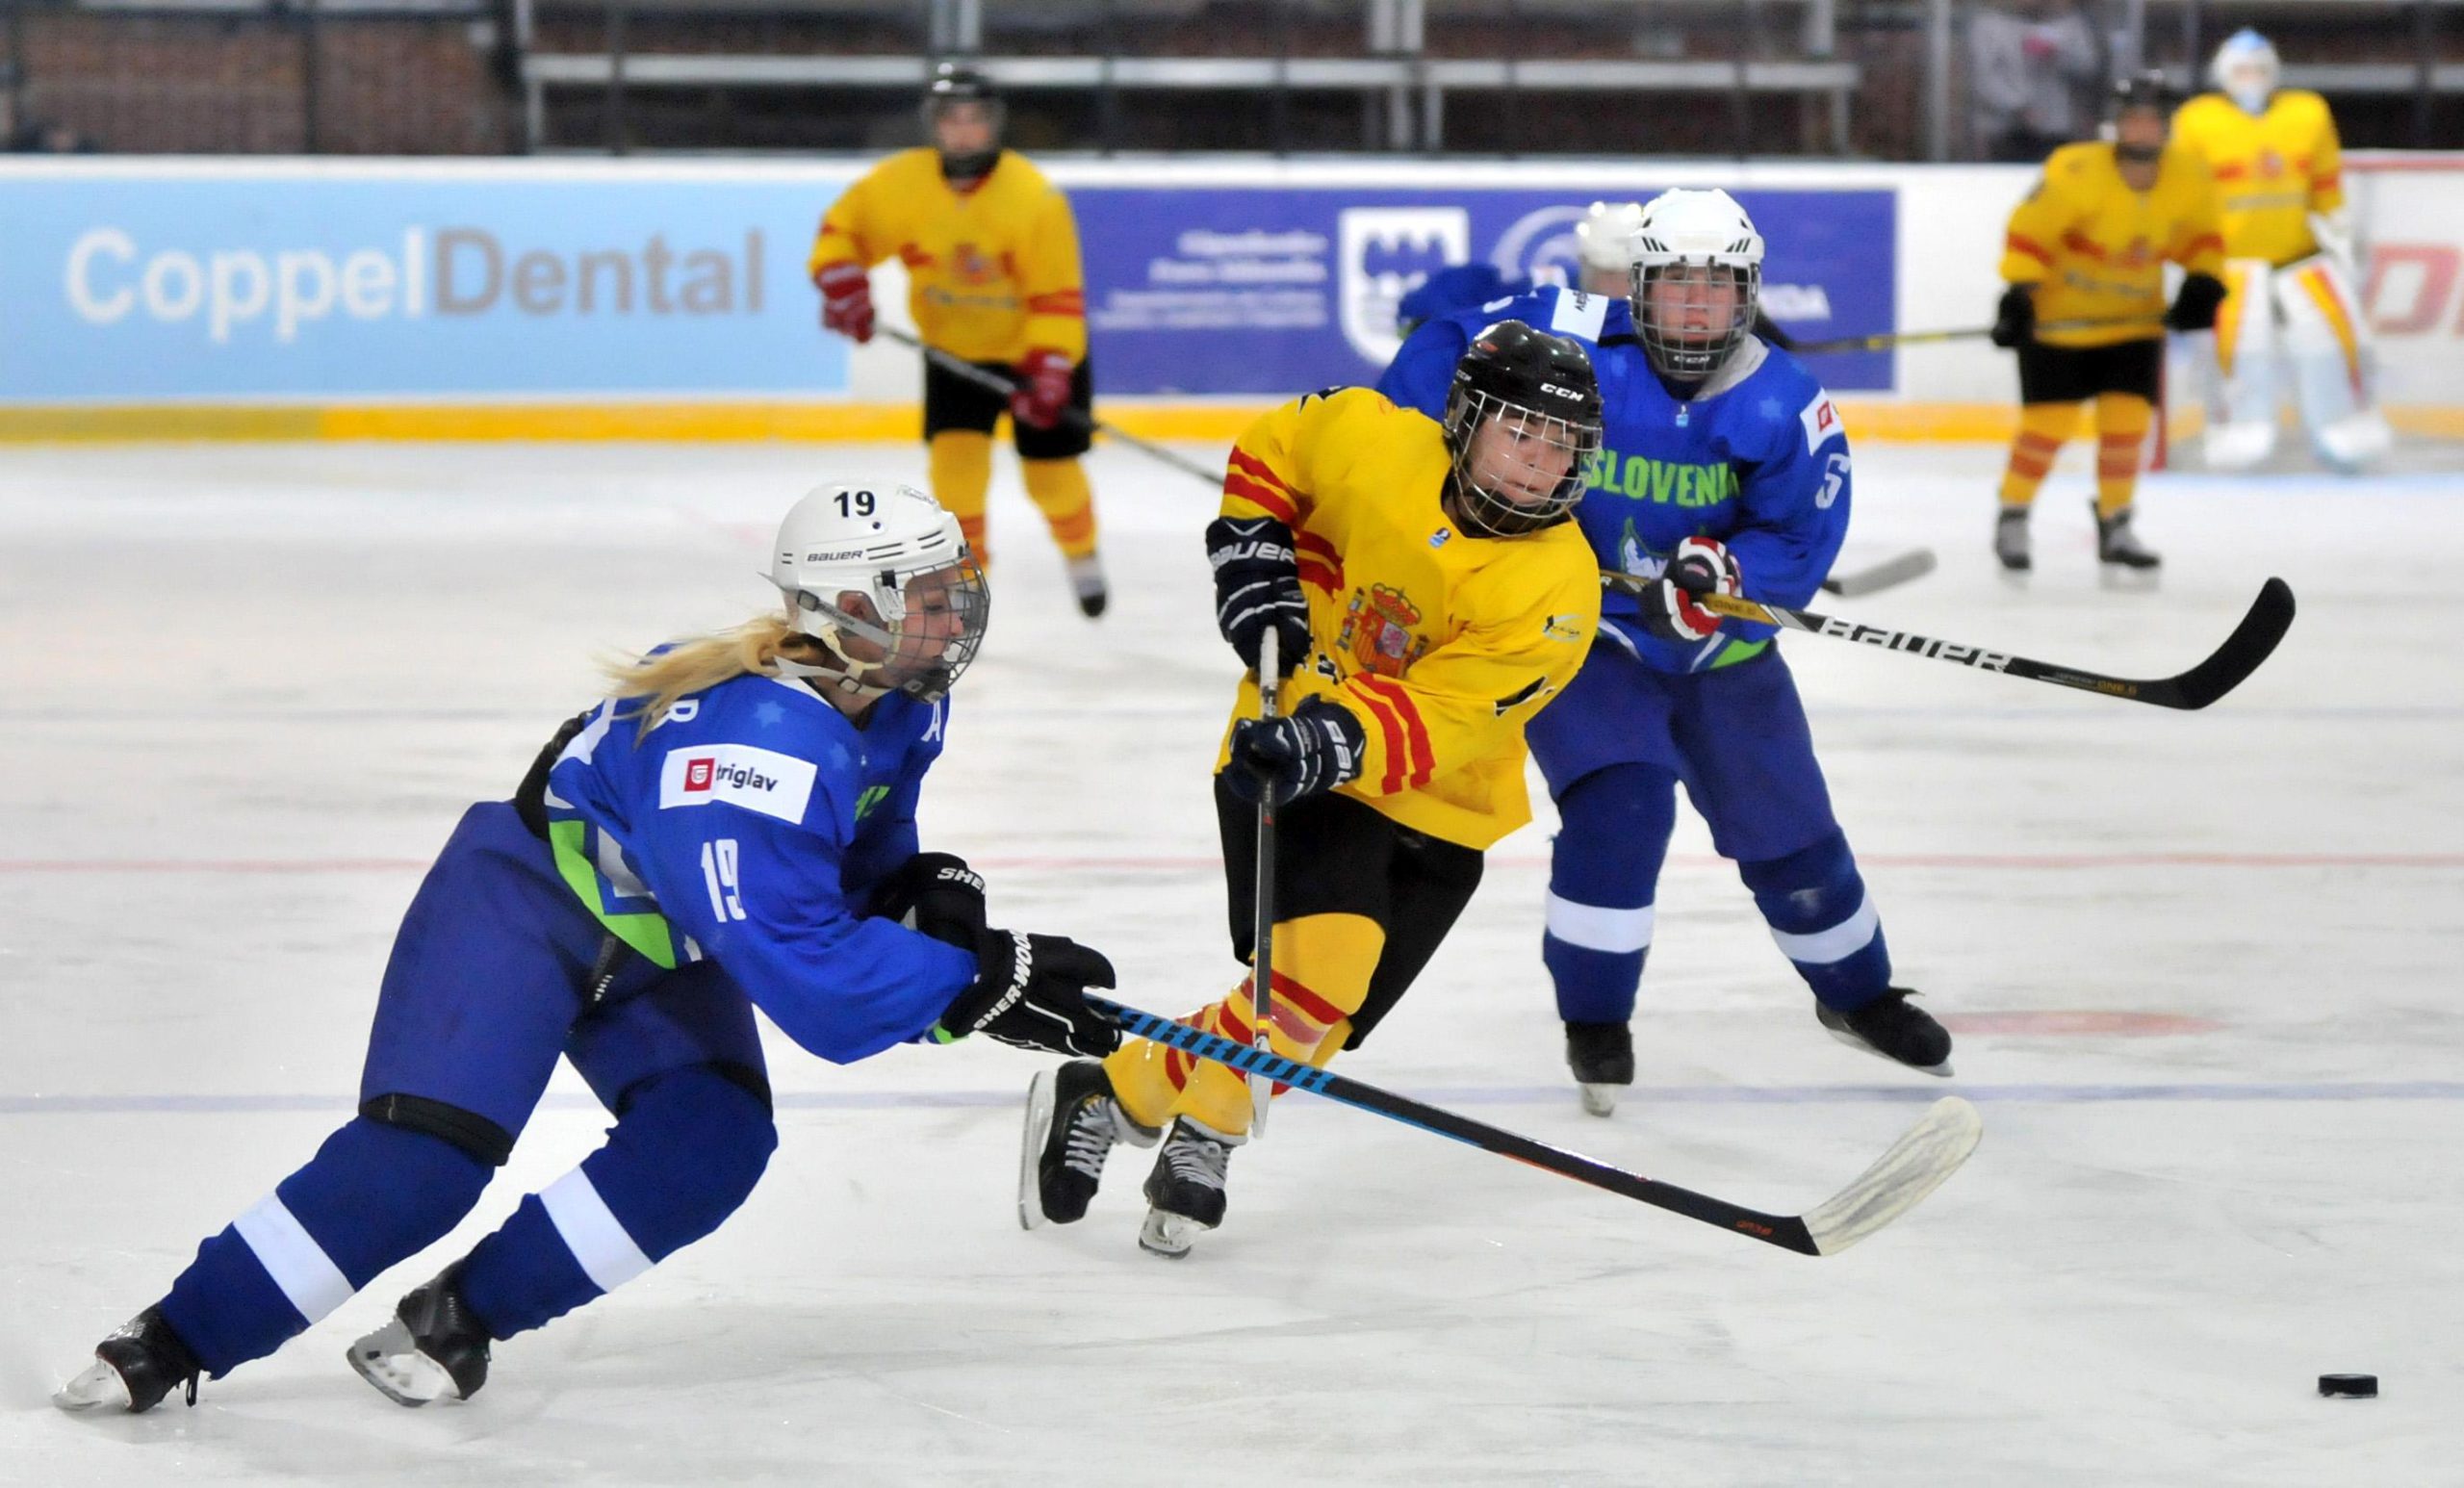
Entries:
POLYGON ((2038 340, 2102 347, 2163 335, 2163 266, 2223 278, 2215 185, 2198 155, 2166 145, 2156 185, 2134 192, 2107 140, 2062 145, 2003 237, 2001 276, 2033 283, 2038 340), (2109 320, 2060 330, 2065 320, 2109 320))

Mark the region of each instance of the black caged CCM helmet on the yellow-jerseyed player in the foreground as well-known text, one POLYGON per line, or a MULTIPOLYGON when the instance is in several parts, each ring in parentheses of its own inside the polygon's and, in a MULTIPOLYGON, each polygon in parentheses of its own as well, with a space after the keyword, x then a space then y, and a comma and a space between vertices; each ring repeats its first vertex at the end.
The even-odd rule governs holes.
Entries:
POLYGON ((1446 392, 1456 522, 1476 537, 1515 537, 1574 515, 1599 453, 1599 379, 1582 342, 1498 320, 1471 338, 1446 392), (1503 424, 1506 446, 1476 463, 1481 431, 1503 424))

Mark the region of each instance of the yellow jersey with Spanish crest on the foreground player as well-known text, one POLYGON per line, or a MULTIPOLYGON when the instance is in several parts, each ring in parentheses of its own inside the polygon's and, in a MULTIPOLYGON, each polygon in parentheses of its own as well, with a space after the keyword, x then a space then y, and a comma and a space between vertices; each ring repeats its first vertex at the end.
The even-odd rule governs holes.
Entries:
MULTIPOLYGON (((1582 668, 1599 562, 1582 527, 1471 537, 1446 520, 1446 436, 1368 387, 1274 409, 1232 446, 1227 517, 1276 517, 1308 594, 1311 655, 1284 707, 1326 697, 1368 739, 1338 786, 1400 825, 1488 847, 1530 820, 1523 727, 1582 668)), ((1257 717, 1242 677, 1232 719, 1257 717)), ((1230 759, 1230 729, 1215 766, 1230 759)))

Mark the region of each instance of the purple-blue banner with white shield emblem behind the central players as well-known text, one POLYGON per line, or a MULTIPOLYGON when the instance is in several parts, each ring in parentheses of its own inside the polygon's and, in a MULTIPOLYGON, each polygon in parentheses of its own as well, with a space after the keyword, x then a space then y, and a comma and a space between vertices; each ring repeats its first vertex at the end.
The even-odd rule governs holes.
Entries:
MULTIPOLYGON (((1643 192, 1648 195, 1648 192, 1643 192)), ((1772 244, 1764 310, 1811 338, 1892 328, 1890 190, 1740 190, 1772 244)), ((1077 187, 1104 392, 1289 394, 1370 382, 1395 303, 1432 269, 1574 271, 1584 204, 1533 190, 1077 187)), ((1892 387, 1890 352, 1818 357, 1833 392, 1892 387)))

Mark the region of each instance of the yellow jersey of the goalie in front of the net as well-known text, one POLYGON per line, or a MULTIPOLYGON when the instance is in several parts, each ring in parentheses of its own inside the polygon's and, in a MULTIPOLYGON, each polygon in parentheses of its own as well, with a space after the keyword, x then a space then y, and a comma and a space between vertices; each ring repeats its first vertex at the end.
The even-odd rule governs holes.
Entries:
POLYGON ((2319 251, 2311 212, 2343 207, 2343 148, 2326 99, 2279 89, 2250 116, 2223 94, 2200 94, 2173 116, 2173 138, 2195 150, 2225 207, 2225 256, 2282 269, 2319 251))

